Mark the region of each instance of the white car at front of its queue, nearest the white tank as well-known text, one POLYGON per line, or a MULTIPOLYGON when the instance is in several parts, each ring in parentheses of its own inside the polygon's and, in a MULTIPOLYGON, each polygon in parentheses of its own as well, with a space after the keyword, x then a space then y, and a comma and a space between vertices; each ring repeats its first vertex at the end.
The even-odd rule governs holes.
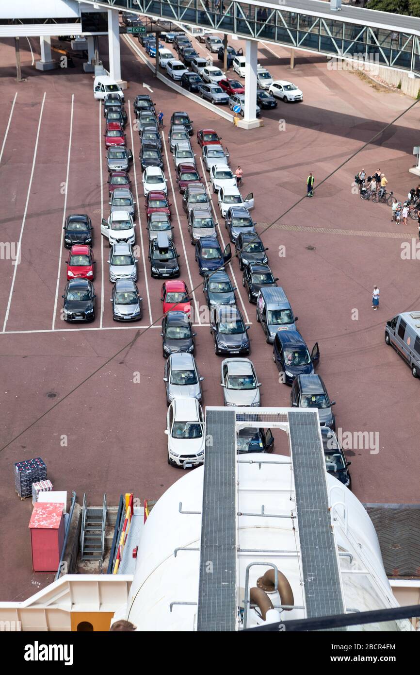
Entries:
POLYGON ((192 468, 204 462, 204 416, 196 398, 175 398, 168 408, 168 464, 192 468))

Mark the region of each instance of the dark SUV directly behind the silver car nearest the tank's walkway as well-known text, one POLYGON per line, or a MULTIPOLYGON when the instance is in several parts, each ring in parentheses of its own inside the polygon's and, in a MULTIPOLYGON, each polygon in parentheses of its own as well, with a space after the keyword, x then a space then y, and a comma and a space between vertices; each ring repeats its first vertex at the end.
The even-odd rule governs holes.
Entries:
POLYGON ((215 354, 249 354, 247 330, 249 326, 245 326, 236 306, 224 304, 216 307, 210 316, 215 354))

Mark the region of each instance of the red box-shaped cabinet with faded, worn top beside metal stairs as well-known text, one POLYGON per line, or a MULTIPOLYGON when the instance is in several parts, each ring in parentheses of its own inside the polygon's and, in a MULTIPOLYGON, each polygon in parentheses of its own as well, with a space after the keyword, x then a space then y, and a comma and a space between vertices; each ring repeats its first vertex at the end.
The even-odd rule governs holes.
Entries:
POLYGON ((57 572, 64 542, 63 504, 36 502, 29 522, 32 570, 57 572))

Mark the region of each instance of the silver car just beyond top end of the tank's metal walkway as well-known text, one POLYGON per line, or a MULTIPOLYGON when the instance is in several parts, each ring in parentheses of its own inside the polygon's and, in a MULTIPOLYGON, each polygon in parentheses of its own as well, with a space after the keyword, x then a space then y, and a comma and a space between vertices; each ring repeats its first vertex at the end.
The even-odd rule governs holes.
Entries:
POLYGON ((220 385, 225 406, 260 406, 260 382, 249 358, 225 358, 222 361, 220 385))

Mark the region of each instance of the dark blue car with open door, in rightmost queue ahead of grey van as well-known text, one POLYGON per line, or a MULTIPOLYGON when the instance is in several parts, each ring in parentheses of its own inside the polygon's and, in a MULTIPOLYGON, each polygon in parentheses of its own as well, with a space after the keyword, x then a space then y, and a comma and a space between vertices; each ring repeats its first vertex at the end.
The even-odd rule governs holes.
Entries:
POLYGON ((273 361, 281 373, 284 384, 292 384, 297 375, 312 375, 320 361, 318 342, 312 351, 306 346, 301 333, 294 330, 277 331, 273 343, 273 361))

